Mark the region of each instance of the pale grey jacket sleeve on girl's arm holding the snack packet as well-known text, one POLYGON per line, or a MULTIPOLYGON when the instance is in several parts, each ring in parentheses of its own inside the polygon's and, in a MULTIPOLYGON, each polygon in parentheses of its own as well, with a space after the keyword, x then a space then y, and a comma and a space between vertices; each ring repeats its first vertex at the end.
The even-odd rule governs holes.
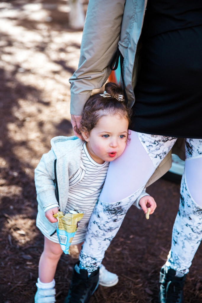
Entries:
POLYGON ((55 196, 54 161, 56 156, 51 150, 44 154, 35 168, 37 201, 44 211, 59 206, 55 196))

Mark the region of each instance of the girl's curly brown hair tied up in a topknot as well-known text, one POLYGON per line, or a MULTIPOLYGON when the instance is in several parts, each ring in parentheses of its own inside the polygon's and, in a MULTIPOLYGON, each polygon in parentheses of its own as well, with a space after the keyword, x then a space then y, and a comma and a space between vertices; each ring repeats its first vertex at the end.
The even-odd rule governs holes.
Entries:
POLYGON ((128 120, 130 125, 131 122, 131 110, 126 107, 124 99, 118 99, 119 95, 123 95, 123 90, 120 85, 113 82, 108 82, 104 90, 110 97, 104 98, 100 93, 91 95, 90 98, 84 105, 80 129, 75 126, 75 132, 81 135, 81 131, 88 132, 90 134, 91 130, 96 126, 99 119, 103 116, 108 115, 120 115, 128 120))

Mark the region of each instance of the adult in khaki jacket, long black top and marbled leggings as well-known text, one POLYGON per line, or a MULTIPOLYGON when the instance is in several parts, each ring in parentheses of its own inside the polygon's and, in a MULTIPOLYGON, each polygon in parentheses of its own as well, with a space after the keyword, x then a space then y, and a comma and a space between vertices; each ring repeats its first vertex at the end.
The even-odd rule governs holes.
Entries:
POLYGON ((79 68, 70 79, 73 126, 79 125, 80 111, 91 89, 100 88, 107 80, 117 45, 124 58, 128 106, 133 106, 135 95, 130 145, 109 167, 81 251, 81 266, 88 272, 100 264, 127 209, 155 169, 150 183, 169 168, 171 149, 177 146, 182 156, 179 147, 185 139, 180 207, 171 251, 160 274, 161 303, 183 302, 184 280, 202 237, 201 13, 198 0, 148 0, 148 5, 141 0, 90 1, 79 68), (116 182, 110 182, 114 176, 116 182), (117 208, 122 214, 111 230, 117 208), (106 213, 106 209, 108 218, 99 221, 98 213, 106 213))

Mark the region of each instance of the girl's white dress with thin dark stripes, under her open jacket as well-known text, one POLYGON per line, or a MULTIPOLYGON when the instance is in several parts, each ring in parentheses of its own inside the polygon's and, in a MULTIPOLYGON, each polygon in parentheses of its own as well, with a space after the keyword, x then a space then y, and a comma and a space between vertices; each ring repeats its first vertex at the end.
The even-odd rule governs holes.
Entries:
MULTIPOLYGON (((69 194, 65 208, 65 213, 72 209, 84 212, 78 230, 71 242, 72 245, 79 244, 85 239, 88 222, 102 190, 109 166, 109 162, 103 164, 95 162, 89 155, 85 143, 81 151, 81 161, 85 168, 85 174, 82 178, 82 172, 75 173, 69 180, 69 194)), ((45 226, 40 227, 46 238, 59 243, 56 233, 50 237, 45 226)))

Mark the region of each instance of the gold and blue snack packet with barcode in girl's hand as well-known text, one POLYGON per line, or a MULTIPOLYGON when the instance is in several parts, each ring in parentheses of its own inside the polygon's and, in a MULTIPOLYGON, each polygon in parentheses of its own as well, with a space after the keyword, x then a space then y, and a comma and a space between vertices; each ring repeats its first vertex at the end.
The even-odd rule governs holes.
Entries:
POLYGON ((62 211, 58 211, 57 214, 53 215, 54 218, 58 219, 57 235, 60 246, 65 254, 69 254, 71 241, 83 215, 84 213, 75 210, 69 211, 66 215, 62 211))

